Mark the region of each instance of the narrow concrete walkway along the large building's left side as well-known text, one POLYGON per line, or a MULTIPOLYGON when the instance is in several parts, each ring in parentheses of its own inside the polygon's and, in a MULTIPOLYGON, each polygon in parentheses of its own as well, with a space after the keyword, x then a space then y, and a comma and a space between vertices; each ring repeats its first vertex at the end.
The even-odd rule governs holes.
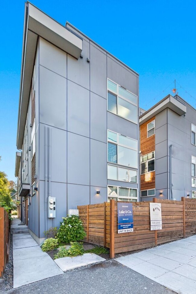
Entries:
MULTIPOLYGON (((18 219, 12 220, 11 228, 17 228, 19 223, 18 219)), ((19 231, 21 227, 23 226, 19 226, 19 231)), ((13 231, 14 288, 63 273, 28 232, 16 231, 13 231)))

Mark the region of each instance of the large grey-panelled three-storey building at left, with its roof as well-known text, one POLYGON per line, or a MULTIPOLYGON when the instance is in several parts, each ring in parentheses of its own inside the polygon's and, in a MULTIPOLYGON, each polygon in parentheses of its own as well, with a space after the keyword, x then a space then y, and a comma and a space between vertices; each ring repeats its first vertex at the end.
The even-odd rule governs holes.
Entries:
POLYGON ((135 71, 25 4, 15 175, 38 243, 77 205, 138 200, 138 104, 135 71))

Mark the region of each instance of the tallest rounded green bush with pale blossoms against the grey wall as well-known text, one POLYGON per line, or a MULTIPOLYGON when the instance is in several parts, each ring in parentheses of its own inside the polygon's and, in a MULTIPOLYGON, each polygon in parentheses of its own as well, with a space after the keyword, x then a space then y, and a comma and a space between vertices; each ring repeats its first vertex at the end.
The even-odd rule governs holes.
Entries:
POLYGON ((80 241, 86 236, 82 221, 76 215, 62 217, 63 222, 57 232, 57 239, 62 244, 80 241))

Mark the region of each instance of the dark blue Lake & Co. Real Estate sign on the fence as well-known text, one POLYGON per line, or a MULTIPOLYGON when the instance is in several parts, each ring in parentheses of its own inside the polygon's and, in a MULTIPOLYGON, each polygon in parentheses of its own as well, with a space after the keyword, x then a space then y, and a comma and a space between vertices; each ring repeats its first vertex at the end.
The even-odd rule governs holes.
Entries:
POLYGON ((117 202, 118 233, 133 232, 133 205, 132 203, 117 202))

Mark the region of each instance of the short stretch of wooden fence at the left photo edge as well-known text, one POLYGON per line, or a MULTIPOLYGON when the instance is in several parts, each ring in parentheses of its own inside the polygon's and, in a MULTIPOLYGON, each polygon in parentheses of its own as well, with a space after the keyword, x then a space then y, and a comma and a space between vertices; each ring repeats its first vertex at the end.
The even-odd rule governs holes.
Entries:
POLYGON ((9 228, 8 213, 3 207, 0 207, 0 277, 2 277, 8 261, 9 228))

